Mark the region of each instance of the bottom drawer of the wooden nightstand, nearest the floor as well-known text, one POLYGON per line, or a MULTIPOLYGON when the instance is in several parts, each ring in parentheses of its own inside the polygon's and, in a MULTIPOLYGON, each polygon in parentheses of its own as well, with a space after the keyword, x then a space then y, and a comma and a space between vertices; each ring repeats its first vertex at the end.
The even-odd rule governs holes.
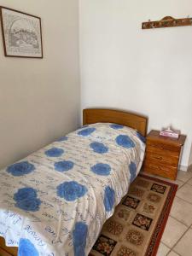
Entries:
POLYGON ((160 175, 162 177, 170 177, 172 179, 175 179, 177 176, 177 167, 160 166, 156 165, 156 163, 153 161, 145 160, 144 172, 149 172, 152 174, 160 175))

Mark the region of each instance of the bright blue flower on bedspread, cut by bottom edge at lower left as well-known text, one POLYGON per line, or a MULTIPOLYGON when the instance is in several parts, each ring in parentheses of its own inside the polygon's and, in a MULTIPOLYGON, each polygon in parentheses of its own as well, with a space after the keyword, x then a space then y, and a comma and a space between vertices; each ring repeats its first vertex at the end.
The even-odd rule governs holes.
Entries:
POLYGON ((29 239, 20 238, 18 256, 39 256, 39 253, 29 239))

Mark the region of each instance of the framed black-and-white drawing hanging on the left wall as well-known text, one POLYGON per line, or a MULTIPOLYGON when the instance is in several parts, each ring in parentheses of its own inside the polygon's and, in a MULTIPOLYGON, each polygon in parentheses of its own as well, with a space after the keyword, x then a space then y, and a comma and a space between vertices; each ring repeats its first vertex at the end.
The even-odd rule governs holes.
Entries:
POLYGON ((39 17, 2 6, 0 16, 5 56, 43 58, 39 17))

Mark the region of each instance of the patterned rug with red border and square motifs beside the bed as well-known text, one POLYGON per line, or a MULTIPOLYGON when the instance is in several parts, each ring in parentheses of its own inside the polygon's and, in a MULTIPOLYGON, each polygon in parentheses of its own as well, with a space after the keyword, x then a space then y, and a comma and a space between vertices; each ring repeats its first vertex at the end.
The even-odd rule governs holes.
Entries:
POLYGON ((156 255, 176 191, 176 184, 139 175, 89 256, 156 255))

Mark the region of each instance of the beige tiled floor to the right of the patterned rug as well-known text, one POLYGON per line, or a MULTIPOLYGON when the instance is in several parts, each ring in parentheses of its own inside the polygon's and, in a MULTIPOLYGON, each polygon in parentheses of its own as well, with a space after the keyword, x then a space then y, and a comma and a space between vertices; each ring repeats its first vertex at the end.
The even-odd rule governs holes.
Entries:
POLYGON ((192 172, 179 171, 175 183, 179 187, 157 256, 192 255, 192 172))

